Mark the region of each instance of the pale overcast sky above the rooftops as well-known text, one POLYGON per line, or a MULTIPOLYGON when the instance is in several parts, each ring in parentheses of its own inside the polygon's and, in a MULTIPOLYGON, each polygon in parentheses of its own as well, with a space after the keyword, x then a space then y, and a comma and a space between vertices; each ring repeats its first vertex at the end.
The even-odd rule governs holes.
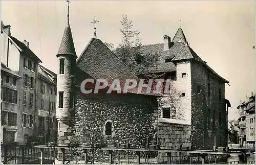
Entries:
MULTIPOLYGON (((77 56, 93 36, 117 46, 121 15, 126 14, 140 31, 143 44, 161 43, 174 37, 181 26, 191 48, 218 74, 230 81, 230 119, 240 99, 255 92, 254 1, 71 1, 70 26, 77 56)), ((56 54, 67 20, 66 1, 1 1, 1 16, 11 25, 12 36, 26 39, 42 65, 57 73, 56 54)))

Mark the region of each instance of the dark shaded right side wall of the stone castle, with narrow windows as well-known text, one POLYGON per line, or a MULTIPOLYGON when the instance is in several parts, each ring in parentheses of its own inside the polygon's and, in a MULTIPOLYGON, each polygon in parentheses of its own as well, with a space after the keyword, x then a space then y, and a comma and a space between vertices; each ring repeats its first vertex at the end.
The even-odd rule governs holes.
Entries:
POLYGON ((216 146, 225 147, 225 84, 197 61, 191 62, 191 75, 192 146, 194 149, 212 150, 216 138, 216 146))

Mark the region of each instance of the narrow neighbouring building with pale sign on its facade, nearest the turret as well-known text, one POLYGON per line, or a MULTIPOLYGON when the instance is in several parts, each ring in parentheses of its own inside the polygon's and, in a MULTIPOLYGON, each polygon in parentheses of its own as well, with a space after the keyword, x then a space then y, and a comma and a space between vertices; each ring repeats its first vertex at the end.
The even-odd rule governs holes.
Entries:
POLYGON ((39 65, 37 76, 36 132, 39 142, 55 142, 57 75, 39 65))

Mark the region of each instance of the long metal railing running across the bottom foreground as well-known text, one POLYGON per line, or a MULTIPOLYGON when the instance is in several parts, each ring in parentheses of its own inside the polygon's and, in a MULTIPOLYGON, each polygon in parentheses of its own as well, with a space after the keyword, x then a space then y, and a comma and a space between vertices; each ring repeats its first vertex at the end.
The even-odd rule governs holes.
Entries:
POLYGON ((146 148, 130 148, 127 146, 103 147, 103 146, 55 146, 49 145, 2 145, 2 162, 5 164, 55 164, 57 156, 62 164, 95 164, 95 163, 146 163, 156 164, 170 163, 204 163, 216 162, 213 160, 216 155, 239 155, 241 152, 218 152, 211 150, 189 150, 161 149, 159 146, 149 146, 146 148), (208 156, 208 155, 209 156, 208 156), (163 156, 164 155, 164 156, 163 156), (211 156, 210 156, 211 155, 211 156), (201 157, 198 159, 198 157, 201 157))

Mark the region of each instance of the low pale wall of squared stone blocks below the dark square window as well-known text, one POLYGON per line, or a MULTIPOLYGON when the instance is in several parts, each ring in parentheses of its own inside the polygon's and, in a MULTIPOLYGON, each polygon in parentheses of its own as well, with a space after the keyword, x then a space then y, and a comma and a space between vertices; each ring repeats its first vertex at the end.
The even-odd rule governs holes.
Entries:
MULTIPOLYGON (((161 149, 179 149, 191 146, 191 126, 177 123, 158 123, 158 143, 161 149)), ((184 163, 187 153, 172 153, 172 163, 184 163)), ((159 162, 167 161, 167 153, 159 153, 159 162)))

